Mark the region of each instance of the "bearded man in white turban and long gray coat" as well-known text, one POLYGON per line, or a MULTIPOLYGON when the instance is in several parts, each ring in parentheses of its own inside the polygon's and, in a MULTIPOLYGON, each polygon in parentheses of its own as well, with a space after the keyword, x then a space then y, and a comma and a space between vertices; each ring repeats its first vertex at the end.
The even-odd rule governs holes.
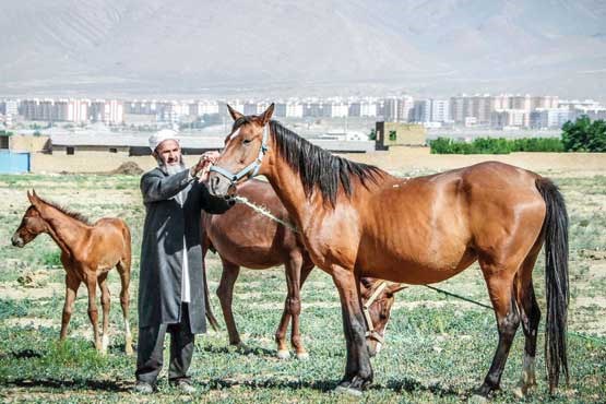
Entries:
POLYGON ((146 215, 139 278, 135 391, 140 393, 156 390, 166 332, 170 334, 168 381, 183 392, 194 392, 187 371, 194 334, 206 331, 200 211, 229 209, 203 183, 218 153, 205 153, 187 168, 176 134, 162 130, 150 138, 158 167, 141 178, 146 215))

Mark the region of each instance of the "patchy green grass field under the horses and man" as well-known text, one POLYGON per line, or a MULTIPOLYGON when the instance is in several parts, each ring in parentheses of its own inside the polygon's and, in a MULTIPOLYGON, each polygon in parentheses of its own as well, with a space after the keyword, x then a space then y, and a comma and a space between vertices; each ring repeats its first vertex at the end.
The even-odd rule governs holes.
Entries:
MULTIPOLYGON (((406 173, 401 173, 405 175, 406 173)), ((551 174, 554 176, 554 174, 551 174)), ((570 228, 571 304, 569 331, 570 385, 555 402, 592 403, 606 400, 606 176, 555 175, 567 199, 570 228), (593 338, 581 337, 590 335, 593 338)), ((119 216, 133 233, 131 324, 136 329, 139 252, 144 210, 139 178, 129 176, 2 176, 0 177, 0 397, 5 402, 343 402, 355 399, 332 393, 345 366, 345 341, 336 289, 316 270, 302 289, 301 332, 310 359, 274 358, 285 281, 282 269, 242 271, 235 290, 234 311, 250 347, 227 346, 225 331, 197 341, 191 373, 195 396, 179 395, 163 372, 159 393, 144 397, 130 393, 134 358, 123 354, 123 334, 117 299, 119 278, 109 275, 112 294, 110 353, 96 354, 86 314, 86 292, 81 288, 67 343, 57 343, 63 304, 63 269, 59 249, 40 236, 24 249, 10 237, 27 207, 25 192, 41 195, 91 218, 119 216)), ((211 288, 221 274, 217 257, 207 261, 211 288)), ((535 270, 542 310, 544 261, 535 270)), ((487 302, 477 266, 439 287, 487 302)), ((215 313, 219 316, 213 296, 215 313)), ((548 401, 543 355, 543 326, 537 356, 537 390, 526 402, 548 401)), ((478 387, 497 343, 491 311, 448 298, 425 287, 412 287, 396 298, 387 335, 388 344, 372 359, 375 383, 364 402, 438 402, 465 400, 478 387)), ((503 373, 502 392, 495 402, 514 402, 511 393, 522 368, 523 336, 518 336, 503 373)))

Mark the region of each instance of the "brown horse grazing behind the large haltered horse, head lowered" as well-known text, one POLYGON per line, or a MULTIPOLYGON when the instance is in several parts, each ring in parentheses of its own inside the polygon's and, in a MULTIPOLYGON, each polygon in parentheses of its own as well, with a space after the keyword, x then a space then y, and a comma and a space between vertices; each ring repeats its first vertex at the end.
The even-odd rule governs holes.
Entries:
MULTIPOLYGON (((242 183, 238 189, 238 194, 256 205, 269 210, 278 219, 289 223, 290 218, 286 209, 269 182, 252 180, 242 183)), ((284 264, 288 294, 275 333, 277 356, 287 358, 290 355, 286 344, 286 330, 292 319, 290 342, 297 357, 299 359, 307 358, 308 354, 299 332, 301 310, 299 292, 307 275, 313 269, 313 262, 305 250, 300 234, 243 204, 237 204, 222 215, 203 213, 202 226, 205 235, 202 241, 203 256, 205 257, 209 249, 215 250, 223 263, 217 295, 229 334, 229 344, 241 344, 231 311, 234 284, 238 278, 240 266, 264 270, 284 264)), ((373 331, 368 334, 368 342, 375 354, 383 344, 385 325, 394 301, 393 295, 404 286, 400 284, 383 286, 382 281, 372 278, 363 278, 360 286, 363 301, 368 306, 368 325, 373 331)), ((210 317, 210 321, 214 322, 215 320, 210 317)))

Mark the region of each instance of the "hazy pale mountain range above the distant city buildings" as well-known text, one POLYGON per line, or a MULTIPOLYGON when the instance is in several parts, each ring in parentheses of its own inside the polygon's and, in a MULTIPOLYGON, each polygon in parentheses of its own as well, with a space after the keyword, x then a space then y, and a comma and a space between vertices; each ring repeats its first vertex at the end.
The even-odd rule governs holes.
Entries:
POLYGON ((0 96, 606 100, 601 0, 4 0, 0 96))

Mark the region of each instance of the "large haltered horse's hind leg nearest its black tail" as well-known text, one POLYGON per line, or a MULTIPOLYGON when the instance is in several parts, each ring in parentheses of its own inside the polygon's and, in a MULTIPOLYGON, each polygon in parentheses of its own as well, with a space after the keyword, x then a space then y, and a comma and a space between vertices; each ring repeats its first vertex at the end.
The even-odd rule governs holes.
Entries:
POLYGON ((520 308, 520 318, 522 320, 522 330, 524 330, 524 365, 522 368, 522 377, 514 394, 523 396, 526 392, 536 385, 535 375, 535 355, 536 355, 536 336, 538 332, 538 323, 540 321, 540 309, 536 302, 534 294, 532 272, 536 263, 536 259, 540 251, 542 243, 524 260, 521 271, 515 277, 515 299, 520 308))

